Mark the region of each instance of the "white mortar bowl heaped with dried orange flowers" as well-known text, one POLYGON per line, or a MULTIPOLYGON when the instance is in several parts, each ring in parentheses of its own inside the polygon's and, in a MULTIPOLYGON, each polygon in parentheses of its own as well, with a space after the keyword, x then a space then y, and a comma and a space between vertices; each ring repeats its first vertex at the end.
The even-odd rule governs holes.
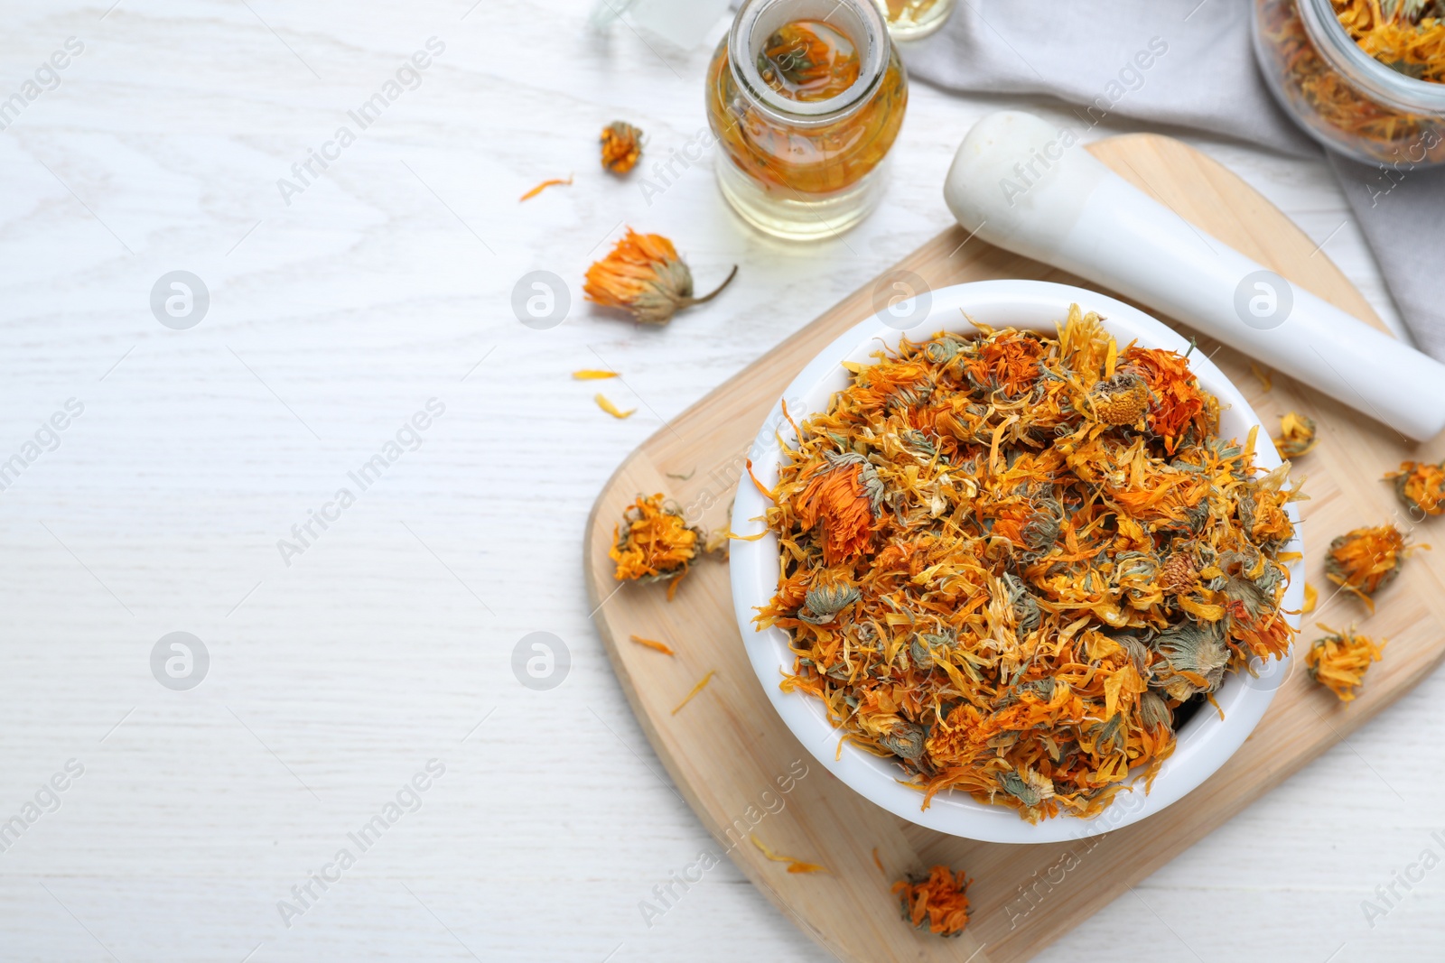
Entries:
POLYGON ((897 816, 1019 843, 1126 826, 1224 765, 1289 674, 1289 463, 1123 302, 931 292, 828 345, 759 439, 731 518, 749 658, 897 816))

